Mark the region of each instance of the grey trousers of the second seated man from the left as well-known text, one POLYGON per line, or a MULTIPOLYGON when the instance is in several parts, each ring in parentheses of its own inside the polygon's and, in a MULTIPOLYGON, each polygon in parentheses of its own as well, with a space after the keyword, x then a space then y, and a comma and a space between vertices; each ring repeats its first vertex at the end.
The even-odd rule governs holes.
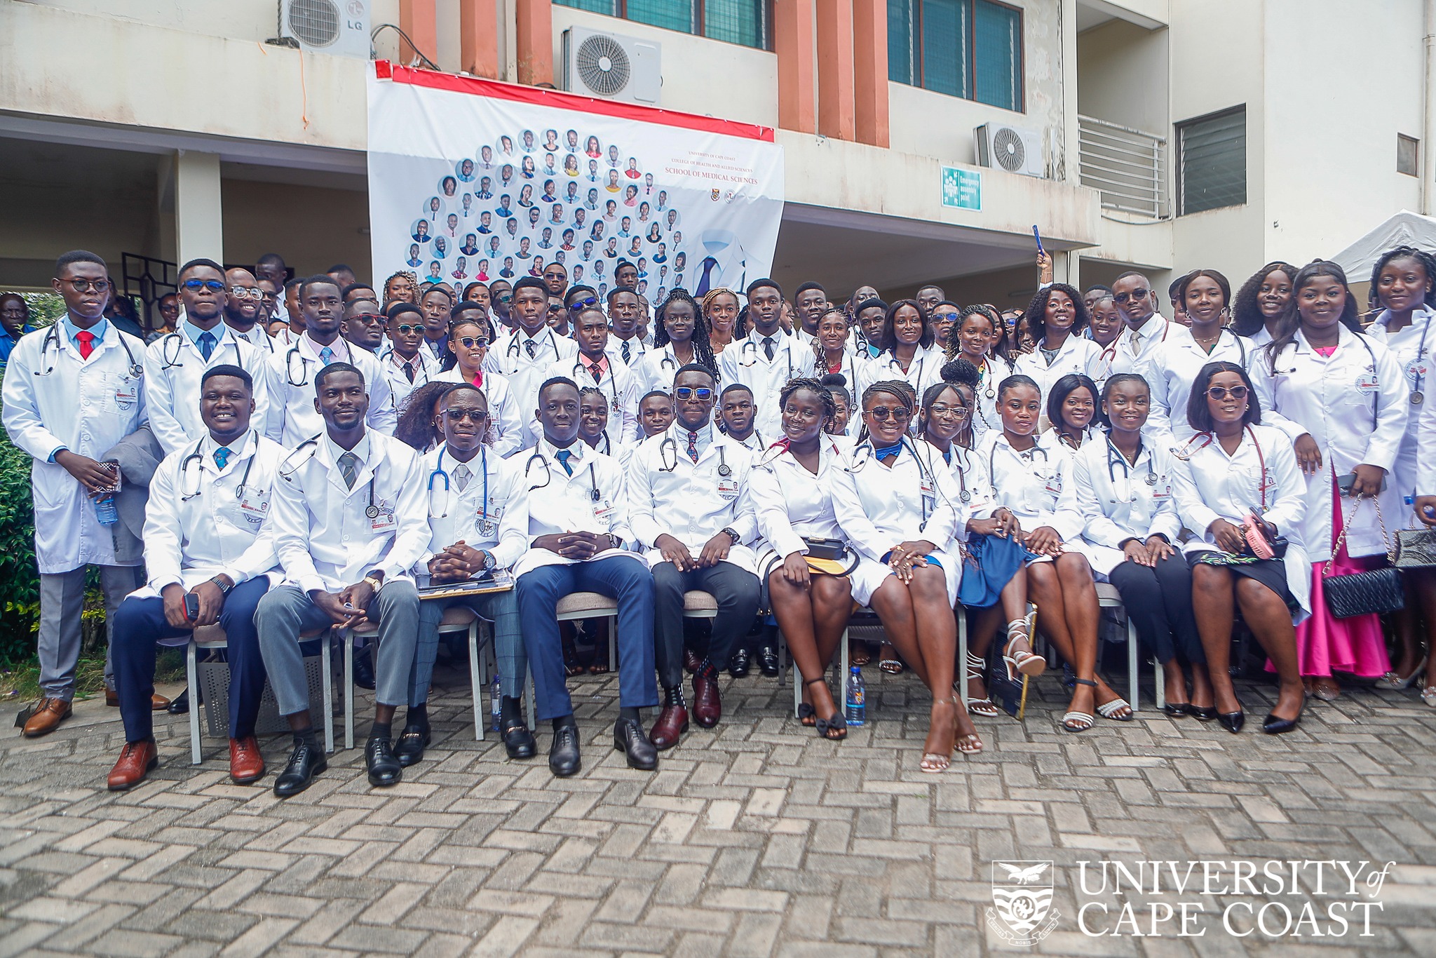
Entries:
MULTIPOLYGON (((379 648, 373 659, 375 701, 379 705, 404 705, 409 698, 409 665, 419 629, 418 589, 404 579, 383 583, 369 606, 369 616, 379 623, 379 648)), ((280 715, 309 708, 309 682, 304 679, 299 635, 329 625, 333 625, 329 616, 296 586, 270 589, 260 599, 254 626, 280 715)))

